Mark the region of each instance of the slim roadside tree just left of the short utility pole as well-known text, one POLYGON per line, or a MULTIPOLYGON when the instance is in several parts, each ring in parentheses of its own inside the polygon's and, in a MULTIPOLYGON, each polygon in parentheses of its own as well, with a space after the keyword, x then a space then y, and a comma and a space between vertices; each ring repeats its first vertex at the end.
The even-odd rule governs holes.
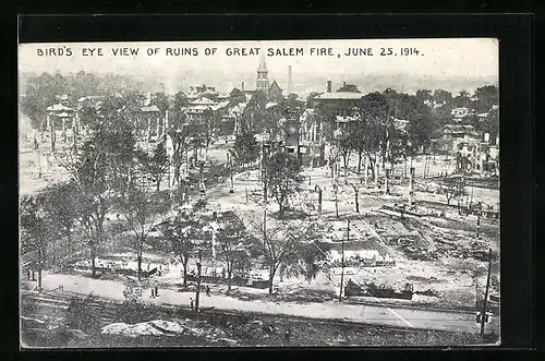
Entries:
POLYGON ((180 257, 183 267, 183 286, 187 286, 187 264, 195 250, 195 240, 201 234, 202 225, 196 217, 178 214, 161 225, 165 239, 170 242, 171 251, 180 257))

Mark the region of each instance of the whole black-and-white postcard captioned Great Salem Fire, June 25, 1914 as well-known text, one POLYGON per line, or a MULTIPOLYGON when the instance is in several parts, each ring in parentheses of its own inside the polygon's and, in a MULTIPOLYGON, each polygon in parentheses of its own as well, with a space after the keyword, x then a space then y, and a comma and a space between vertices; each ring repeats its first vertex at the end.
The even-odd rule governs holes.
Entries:
POLYGON ((498 51, 20 44, 21 348, 499 346, 498 51))

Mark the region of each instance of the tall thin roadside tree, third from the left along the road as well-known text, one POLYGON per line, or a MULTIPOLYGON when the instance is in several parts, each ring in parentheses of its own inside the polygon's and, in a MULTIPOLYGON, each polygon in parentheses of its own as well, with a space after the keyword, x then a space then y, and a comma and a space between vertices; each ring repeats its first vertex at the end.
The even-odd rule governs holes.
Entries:
POLYGON ((142 255, 149 231, 156 227, 161 213, 168 208, 166 198, 150 198, 145 186, 132 184, 129 194, 119 198, 117 207, 134 233, 134 249, 138 264, 138 280, 142 279, 142 255))

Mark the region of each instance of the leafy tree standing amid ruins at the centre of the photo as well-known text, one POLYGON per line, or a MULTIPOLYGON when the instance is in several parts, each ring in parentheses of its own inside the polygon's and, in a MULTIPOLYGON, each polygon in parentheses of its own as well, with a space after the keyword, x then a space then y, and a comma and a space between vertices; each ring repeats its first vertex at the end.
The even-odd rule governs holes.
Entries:
POLYGON ((267 159, 267 184, 270 194, 276 198, 279 206, 280 218, 283 217, 291 194, 301 190, 304 177, 299 175, 300 164, 298 159, 284 152, 278 152, 267 159))

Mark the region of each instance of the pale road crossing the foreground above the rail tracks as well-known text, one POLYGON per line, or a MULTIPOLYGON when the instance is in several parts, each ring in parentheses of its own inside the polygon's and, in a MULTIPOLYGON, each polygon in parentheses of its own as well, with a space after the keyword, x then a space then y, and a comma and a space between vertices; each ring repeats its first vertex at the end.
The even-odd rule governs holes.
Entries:
MULTIPOLYGON (((55 289, 62 285, 64 291, 88 294, 123 301, 123 282, 117 280, 90 279, 78 275, 62 275, 45 273, 43 278, 45 289, 55 289)), ((142 301, 152 304, 183 305, 190 304, 194 292, 179 292, 174 289, 159 288, 159 296, 150 298, 150 289, 144 289, 142 301)), ((268 314, 286 314, 308 318, 347 320, 365 324, 376 324, 396 327, 438 329, 450 332, 477 332, 474 316, 448 312, 411 310, 387 305, 343 304, 337 301, 324 303, 293 303, 274 301, 242 301, 225 294, 213 293, 206 297, 201 293, 201 306, 216 308, 229 311, 246 311, 268 314)))

